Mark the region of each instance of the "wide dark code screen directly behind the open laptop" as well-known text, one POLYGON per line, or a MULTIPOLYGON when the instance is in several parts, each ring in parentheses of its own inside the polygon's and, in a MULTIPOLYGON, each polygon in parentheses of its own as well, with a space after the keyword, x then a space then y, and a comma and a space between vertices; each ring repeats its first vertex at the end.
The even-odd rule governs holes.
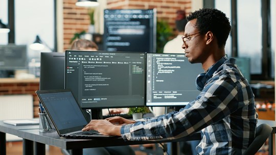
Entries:
POLYGON ((145 53, 66 50, 65 67, 83 109, 145 105, 145 53))

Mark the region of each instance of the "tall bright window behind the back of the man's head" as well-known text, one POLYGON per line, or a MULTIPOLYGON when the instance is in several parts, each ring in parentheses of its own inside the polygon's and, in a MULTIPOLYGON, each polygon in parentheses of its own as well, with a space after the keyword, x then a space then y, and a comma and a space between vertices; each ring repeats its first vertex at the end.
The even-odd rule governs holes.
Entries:
MULTIPOLYGON (((231 57, 249 57, 252 80, 274 78, 275 9, 276 0, 208 0, 204 7, 223 11, 237 21, 236 34, 226 42, 226 54, 231 57), (236 16, 232 16, 232 15, 236 16), (235 41, 237 43, 235 43, 235 41), (237 52, 235 53, 235 49, 237 52)), ((233 22, 231 21, 233 24, 233 22)), ((235 23, 234 23, 235 26, 235 23)), ((235 30, 235 27, 233 27, 235 30)))

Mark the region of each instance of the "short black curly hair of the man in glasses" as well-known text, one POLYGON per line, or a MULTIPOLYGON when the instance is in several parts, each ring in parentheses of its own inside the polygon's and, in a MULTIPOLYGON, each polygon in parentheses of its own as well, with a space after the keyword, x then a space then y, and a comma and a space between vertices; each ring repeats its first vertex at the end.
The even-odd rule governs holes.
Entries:
POLYGON ((231 31, 229 18, 225 13, 217 9, 203 8, 191 13, 186 17, 188 21, 197 19, 195 27, 200 34, 211 31, 218 40, 218 46, 224 47, 231 31))

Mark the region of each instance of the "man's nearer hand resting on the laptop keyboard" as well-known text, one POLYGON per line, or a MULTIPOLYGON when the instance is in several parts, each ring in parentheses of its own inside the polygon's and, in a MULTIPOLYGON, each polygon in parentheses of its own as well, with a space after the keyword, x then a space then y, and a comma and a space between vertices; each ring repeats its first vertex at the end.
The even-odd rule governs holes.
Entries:
POLYGON ((91 120, 82 131, 96 130, 103 135, 121 136, 121 126, 114 125, 105 119, 91 120))

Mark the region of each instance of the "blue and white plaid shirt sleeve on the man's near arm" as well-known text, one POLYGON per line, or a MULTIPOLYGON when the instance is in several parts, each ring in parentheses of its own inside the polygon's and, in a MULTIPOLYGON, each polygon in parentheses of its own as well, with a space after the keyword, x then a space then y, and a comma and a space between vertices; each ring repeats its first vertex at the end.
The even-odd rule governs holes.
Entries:
POLYGON ((236 83, 231 76, 214 76, 197 98, 179 112, 123 125, 121 135, 125 140, 164 140, 200 131, 244 106, 238 104, 236 83))

